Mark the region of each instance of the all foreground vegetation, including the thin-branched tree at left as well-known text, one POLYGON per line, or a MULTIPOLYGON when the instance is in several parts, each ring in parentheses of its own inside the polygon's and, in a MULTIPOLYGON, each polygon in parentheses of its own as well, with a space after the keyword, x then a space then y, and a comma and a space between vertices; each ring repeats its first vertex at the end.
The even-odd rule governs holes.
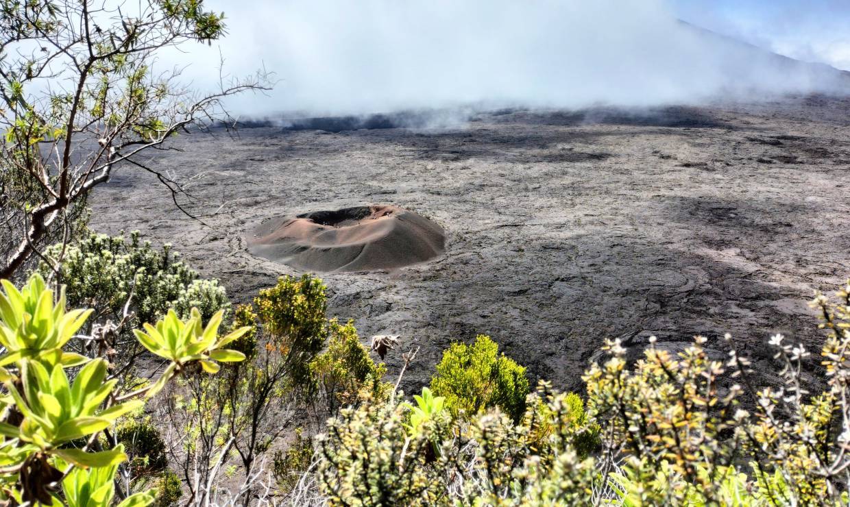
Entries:
POLYGON ((194 96, 153 74, 163 48, 221 37, 223 17, 202 0, 138 7, 0 0, 4 502, 850 503, 850 286, 813 301, 817 392, 803 388, 809 352, 779 335, 779 386, 755 386, 731 338, 720 360, 696 337, 678 353, 650 342, 637 363, 609 342, 578 394, 532 390, 479 336, 410 398, 351 323, 327 318, 319 279, 284 277, 231 307, 167 246, 88 234, 86 202, 114 167, 184 193, 135 155, 267 85, 194 96))

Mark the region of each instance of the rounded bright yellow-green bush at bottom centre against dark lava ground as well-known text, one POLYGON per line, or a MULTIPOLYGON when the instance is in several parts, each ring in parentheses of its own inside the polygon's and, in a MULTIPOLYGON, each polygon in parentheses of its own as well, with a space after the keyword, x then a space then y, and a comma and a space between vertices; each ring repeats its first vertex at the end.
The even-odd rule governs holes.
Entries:
POLYGON ((515 421, 525 411, 529 380, 525 369, 504 354, 489 336, 479 335, 473 345, 453 344, 443 353, 431 379, 434 396, 445 397, 456 416, 473 417, 499 407, 515 421))

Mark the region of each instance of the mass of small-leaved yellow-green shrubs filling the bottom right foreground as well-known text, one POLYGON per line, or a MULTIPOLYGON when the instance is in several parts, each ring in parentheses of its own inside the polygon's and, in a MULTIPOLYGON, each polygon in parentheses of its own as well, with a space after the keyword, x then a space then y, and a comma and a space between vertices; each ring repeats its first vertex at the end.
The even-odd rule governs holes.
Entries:
MULTIPOLYGON (((809 352, 781 335, 770 341, 781 386, 760 390, 730 336, 725 361, 700 336, 677 353, 652 339, 633 364, 610 341, 610 357, 583 377, 587 412, 580 397, 546 384, 513 420, 495 403, 482 409, 471 390, 445 388, 440 396, 466 400, 466 418, 440 424, 436 392, 423 392, 416 407, 394 396, 343 410, 320 437, 323 491, 331 504, 354 505, 846 505, 850 285, 839 298, 813 301, 828 331, 821 392, 803 390, 809 352), (740 385, 721 383, 730 379, 740 385)), ((435 380, 475 384, 473 361, 461 359, 473 356, 469 348, 447 351, 435 380), (462 367, 446 368, 452 363, 462 367)), ((492 361, 494 348, 486 350, 492 361)))

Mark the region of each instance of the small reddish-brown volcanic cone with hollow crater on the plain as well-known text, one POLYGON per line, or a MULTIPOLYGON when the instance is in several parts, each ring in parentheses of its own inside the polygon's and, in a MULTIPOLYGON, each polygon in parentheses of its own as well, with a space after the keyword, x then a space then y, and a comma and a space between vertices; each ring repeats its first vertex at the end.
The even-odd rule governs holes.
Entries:
POLYGON ((392 271, 442 255, 445 234, 399 206, 356 206, 271 219, 248 251, 304 271, 392 271))

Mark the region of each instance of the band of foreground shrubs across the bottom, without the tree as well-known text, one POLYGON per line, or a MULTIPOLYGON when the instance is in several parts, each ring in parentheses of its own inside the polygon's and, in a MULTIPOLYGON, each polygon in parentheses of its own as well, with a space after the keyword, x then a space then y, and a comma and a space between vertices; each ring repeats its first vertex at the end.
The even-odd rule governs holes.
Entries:
POLYGON ((825 330, 819 392, 802 387, 809 352, 779 335, 781 386, 756 388, 730 337, 721 361, 698 336, 679 353, 650 341, 632 364, 609 342, 580 394, 530 388, 481 335, 446 350, 430 385, 407 397, 352 324, 326 317, 319 279, 284 277, 233 308, 167 249, 133 240, 121 262, 96 262, 110 245, 127 243, 73 245, 57 276, 77 283, 60 290, 39 273, 20 290, 3 280, 0 486, 13 504, 850 501, 850 287, 836 303, 813 301, 825 330), (137 299, 122 279, 160 280, 156 293, 173 299, 137 299), (173 311, 201 285, 208 317, 173 311), (137 307, 156 324, 104 331, 113 318, 139 322, 137 307))

